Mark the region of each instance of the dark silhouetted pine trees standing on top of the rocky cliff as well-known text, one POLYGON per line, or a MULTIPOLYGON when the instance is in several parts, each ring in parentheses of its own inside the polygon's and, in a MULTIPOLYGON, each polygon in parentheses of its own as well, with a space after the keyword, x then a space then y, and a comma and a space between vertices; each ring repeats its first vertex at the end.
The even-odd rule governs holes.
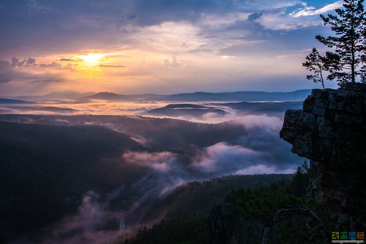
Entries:
POLYGON ((327 79, 337 79, 340 87, 344 87, 346 82, 355 83, 358 76, 361 82, 366 83, 366 12, 363 0, 344 0, 343 8, 337 8, 335 12, 337 15, 328 14, 327 17, 324 15, 320 17, 324 25, 331 26, 330 29, 336 36, 315 37, 335 52, 328 51, 326 56, 322 57, 319 53, 314 53, 313 49, 303 66, 307 70, 314 71, 315 75, 308 75, 306 78, 314 82, 324 82, 322 75, 324 71, 328 71, 327 79), (311 60, 311 55, 318 55, 320 63, 311 60))

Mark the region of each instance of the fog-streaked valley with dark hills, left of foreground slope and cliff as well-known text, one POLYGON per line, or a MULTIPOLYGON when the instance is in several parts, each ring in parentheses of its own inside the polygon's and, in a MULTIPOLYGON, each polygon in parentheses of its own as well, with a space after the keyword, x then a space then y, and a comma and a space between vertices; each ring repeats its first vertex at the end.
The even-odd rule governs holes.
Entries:
POLYGON ((3 100, 4 109, 45 113, 0 115, 1 178, 12 189, 1 202, 2 238, 13 243, 113 241, 120 217, 128 237, 175 206, 150 210, 179 185, 228 174, 288 175, 303 161, 278 136, 284 111, 302 102, 55 102, 52 108, 66 105, 73 115, 3 100), (97 115, 78 115, 81 107, 97 115), (99 115, 117 110, 132 113, 99 115))

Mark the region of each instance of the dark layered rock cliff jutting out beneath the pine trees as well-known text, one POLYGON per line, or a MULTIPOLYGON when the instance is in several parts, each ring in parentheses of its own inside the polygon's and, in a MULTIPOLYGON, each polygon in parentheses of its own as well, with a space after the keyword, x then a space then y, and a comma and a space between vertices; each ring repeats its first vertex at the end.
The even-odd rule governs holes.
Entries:
POLYGON ((293 153, 318 163, 309 196, 351 218, 366 216, 364 84, 314 89, 302 110, 286 111, 280 137, 292 144, 293 153))

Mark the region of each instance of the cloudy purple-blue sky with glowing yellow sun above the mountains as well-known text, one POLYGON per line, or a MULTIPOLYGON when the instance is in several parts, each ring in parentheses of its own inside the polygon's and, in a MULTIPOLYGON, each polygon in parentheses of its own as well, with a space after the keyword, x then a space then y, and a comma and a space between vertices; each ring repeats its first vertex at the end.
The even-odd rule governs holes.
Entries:
MULTIPOLYGON (((0 95, 294 91, 343 1, 2 0, 0 95)), ((326 81, 336 88, 336 82, 326 81)))

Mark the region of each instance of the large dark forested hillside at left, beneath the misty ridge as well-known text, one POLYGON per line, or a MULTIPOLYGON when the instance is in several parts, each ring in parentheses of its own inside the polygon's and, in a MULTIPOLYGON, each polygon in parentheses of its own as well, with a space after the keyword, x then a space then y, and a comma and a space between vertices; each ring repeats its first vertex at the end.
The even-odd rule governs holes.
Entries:
POLYGON ((0 122, 0 240, 75 211, 86 191, 102 195, 141 175, 121 162, 128 149, 143 150, 99 126, 0 122))

